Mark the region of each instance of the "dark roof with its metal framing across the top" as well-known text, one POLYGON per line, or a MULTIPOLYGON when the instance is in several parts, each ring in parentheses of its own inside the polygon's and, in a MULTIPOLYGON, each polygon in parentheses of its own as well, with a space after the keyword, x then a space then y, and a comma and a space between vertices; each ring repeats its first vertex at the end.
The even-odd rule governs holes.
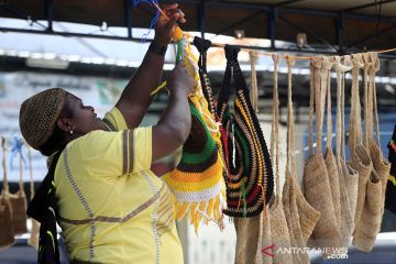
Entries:
MULTIPOLYGON (((155 10, 147 4, 134 7, 132 0, 0 0, 0 18, 46 21, 41 30, 1 28, 6 32, 31 32, 74 36, 134 40, 135 28, 147 28, 155 10), (59 32, 54 21, 108 26, 124 26, 124 36, 59 32)), ((161 1, 175 2, 175 1, 161 1)), ((296 43, 306 33, 308 44, 294 50, 306 53, 355 53, 396 46, 396 0, 179 0, 188 23, 186 31, 296 43)), ((293 48, 292 48, 293 50, 293 48)), ((396 53, 389 54, 389 56, 396 53)))

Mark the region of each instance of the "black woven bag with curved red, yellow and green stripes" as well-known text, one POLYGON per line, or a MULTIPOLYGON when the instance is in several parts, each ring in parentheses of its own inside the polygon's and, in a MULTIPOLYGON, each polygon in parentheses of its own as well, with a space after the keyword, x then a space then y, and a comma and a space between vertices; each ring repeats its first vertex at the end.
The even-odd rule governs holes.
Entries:
POLYGON ((227 209, 231 217, 254 217, 267 204, 274 187, 270 153, 256 113, 252 109, 248 86, 238 63, 239 48, 226 45, 227 67, 218 98, 217 113, 227 131, 222 136, 229 177, 227 209), (229 108, 231 70, 235 85, 234 111, 229 108), (233 154, 234 153, 234 154, 233 154))

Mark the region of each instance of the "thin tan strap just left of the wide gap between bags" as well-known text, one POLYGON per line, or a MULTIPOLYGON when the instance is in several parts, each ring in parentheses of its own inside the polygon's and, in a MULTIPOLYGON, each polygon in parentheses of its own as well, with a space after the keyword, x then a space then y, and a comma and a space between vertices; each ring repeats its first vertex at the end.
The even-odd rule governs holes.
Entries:
POLYGON ((296 64, 294 56, 285 57, 287 64, 287 163, 286 169, 289 169, 290 174, 296 173, 296 158, 295 158, 295 124, 293 117, 293 100, 292 100, 292 77, 293 67, 296 64), (292 170, 290 170, 292 168, 292 170))

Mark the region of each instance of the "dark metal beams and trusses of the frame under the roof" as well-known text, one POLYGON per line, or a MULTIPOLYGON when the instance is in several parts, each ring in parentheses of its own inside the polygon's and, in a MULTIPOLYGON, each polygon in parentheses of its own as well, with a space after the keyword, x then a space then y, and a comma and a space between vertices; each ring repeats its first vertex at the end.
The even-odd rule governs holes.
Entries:
MULTIPOLYGON (((301 30, 304 32, 306 32, 309 36, 318 40, 320 43, 322 43, 324 45, 324 48, 320 48, 317 50, 315 52, 310 51, 310 50, 296 50, 293 52, 298 52, 298 53, 326 53, 326 54, 339 54, 339 55, 343 55, 345 54, 345 52, 348 52, 349 50, 351 50, 354 45, 361 44, 367 40, 371 40, 373 37, 378 36, 380 34, 383 34, 385 32, 388 32, 391 30, 396 29, 396 18, 381 18, 382 21, 386 21, 386 22, 393 22, 395 23, 395 25, 386 28, 381 30, 380 32, 375 33, 375 34, 370 34, 367 36, 362 37, 361 40, 358 40, 354 43, 344 43, 344 37, 343 37, 343 28, 344 28, 344 20, 345 19, 355 19, 355 20, 362 20, 362 21, 375 21, 376 18, 373 15, 363 15, 363 14, 354 14, 351 13, 352 11, 356 11, 360 9, 365 9, 365 8, 370 8, 370 7, 374 7, 375 3, 370 3, 370 4, 363 4, 363 6, 358 6, 358 7, 353 7, 353 8, 349 8, 339 12, 329 12, 329 11, 318 11, 318 10, 306 10, 306 9, 296 9, 296 8, 287 8, 287 6, 296 3, 296 2, 304 2, 306 0, 285 0, 284 2, 274 4, 274 6, 264 6, 264 4, 257 4, 257 3, 243 3, 243 2, 231 2, 231 1, 207 1, 207 0, 179 0, 179 3, 189 3, 189 4, 196 4, 197 9, 198 9, 198 26, 199 26, 199 31, 201 32, 201 36, 205 36, 205 32, 206 32, 206 25, 207 25, 207 11, 208 8, 210 7, 223 7, 226 9, 251 9, 251 10, 257 10, 254 14, 244 18, 235 23, 232 23, 231 25, 221 29, 219 32, 217 32, 216 34, 221 34, 224 31, 228 31, 230 29, 233 29, 242 23, 245 23, 258 15, 262 14, 266 14, 267 15, 267 32, 268 32, 268 40, 271 41, 271 47, 252 47, 249 46, 249 48, 252 50, 271 50, 271 51, 283 51, 282 48, 276 47, 275 45, 275 41, 276 41, 276 21, 280 20, 285 23, 287 23, 288 25, 296 28, 298 30, 301 30), (283 14, 289 14, 289 13, 294 13, 294 14, 307 14, 307 15, 317 15, 317 16, 330 16, 330 18, 334 18, 334 28, 336 28, 336 32, 337 32, 337 43, 328 43, 327 41, 324 41, 320 35, 316 35, 311 32, 309 32, 309 30, 301 28, 300 25, 297 25, 296 23, 294 23, 293 21, 289 21, 288 19, 286 19, 285 16, 283 16, 283 14), (328 48, 331 48, 333 51, 329 51, 328 48)), ((174 2, 174 0, 165 0, 162 2, 174 2)), ((396 2, 396 0, 385 0, 382 1, 382 4, 386 4, 386 3, 391 3, 391 2, 396 2)), ((63 35, 63 36, 76 36, 76 37, 96 37, 96 38, 107 38, 107 40, 122 40, 122 41, 136 41, 136 42, 141 42, 140 38, 138 37, 132 37, 132 16, 131 16, 131 9, 132 9, 132 4, 131 4, 131 0, 124 0, 124 11, 125 11, 125 29, 127 29, 127 36, 113 36, 113 35, 99 35, 99 34, 82 34, 82 33, 77 33, 77 32, 57 32, 53 30, 53 0, 45 0, 44 1, 45 4, 45 18, 47 20, 48 25, 45 26, 42 23, 32 20, 34 23, 40 24, 41 26, 43 26, 43 31, 40 30, 26 30, 26 29, 11 29, 11 28, 0 28, 0 31, 3 32, 20 32, 20 33, 35 33, 35 34, 56 34, 56 35, 63 35)), ((0 3, 0 9, 3 9, 12 14, 14 14, 16 18, 19 19, 29 19, 30 16, 20 10, 16 10, 10 6, 6 6, 6 4, 1 4, 0 3)), ((290 50, 287 50, 290 51, 290 50)), ((386 57, 389 58, 396 58, 396 54, 388 54, 386 55, 386 57)))

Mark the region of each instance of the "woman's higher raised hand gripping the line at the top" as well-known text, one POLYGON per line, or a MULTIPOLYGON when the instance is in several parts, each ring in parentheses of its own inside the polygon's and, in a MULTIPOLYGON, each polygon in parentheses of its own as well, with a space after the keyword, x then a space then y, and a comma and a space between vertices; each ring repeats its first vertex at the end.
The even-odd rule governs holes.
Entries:
POLYGON ((158 21, 155 24, 154 41, 157 44, 167 46, 172 41, 177 23, 186 23, 186 19, 183 11, 178 9, 178 3, 163 4, 162 10, 167 18, 160 13, 158 21))

